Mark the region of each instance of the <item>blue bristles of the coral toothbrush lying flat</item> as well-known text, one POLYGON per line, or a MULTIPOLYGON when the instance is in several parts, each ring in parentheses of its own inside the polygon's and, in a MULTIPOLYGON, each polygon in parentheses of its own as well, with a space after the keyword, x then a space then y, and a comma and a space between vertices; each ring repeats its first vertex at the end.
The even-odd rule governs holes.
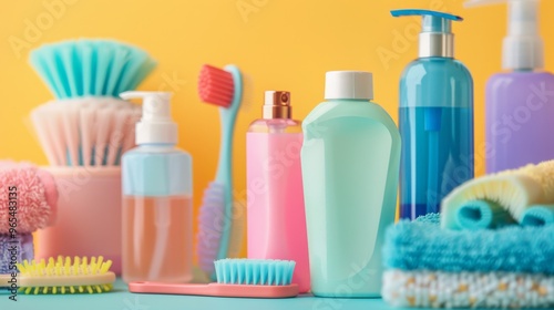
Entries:
POLYGON ((273 259, 219 259, 214 262, 218 283, 288 286, 296 262, 273 259))

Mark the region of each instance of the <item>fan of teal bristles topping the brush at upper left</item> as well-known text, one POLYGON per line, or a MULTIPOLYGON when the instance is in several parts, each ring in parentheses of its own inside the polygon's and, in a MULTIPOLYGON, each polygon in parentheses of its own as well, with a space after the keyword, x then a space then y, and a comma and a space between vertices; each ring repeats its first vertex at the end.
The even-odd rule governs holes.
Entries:
POLYGON ((138 48, 88 39, 44 44, 29 61, 57 99, 116 97, 136 89, 156 66, 138 48))

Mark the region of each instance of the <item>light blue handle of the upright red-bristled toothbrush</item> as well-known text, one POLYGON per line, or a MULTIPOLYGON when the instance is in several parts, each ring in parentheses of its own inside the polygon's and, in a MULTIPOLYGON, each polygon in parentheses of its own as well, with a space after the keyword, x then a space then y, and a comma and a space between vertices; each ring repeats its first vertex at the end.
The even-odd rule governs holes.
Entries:
POLYGON ((238 108, 243 97, 243 79, 240 71, 235 65, 227 65, 225 70, 233 75, 234 95, 229 107, 219 107, 219 116, 222 122, 222 141, 219 147, 219 162, 217 164, 217 173, 215 182, 224 186, 225 206, 224 221, 222 227, 222 239, 217 251, 217 259, 223 259, 228 256, 229 236, 232 229, 233 216, 233 133, 237 117, 238 108))

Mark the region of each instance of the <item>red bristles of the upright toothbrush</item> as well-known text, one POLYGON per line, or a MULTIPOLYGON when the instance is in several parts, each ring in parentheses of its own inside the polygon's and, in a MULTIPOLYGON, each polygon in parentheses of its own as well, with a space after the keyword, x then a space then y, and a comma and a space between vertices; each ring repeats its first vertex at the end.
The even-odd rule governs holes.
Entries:
POLYGON ((229 107, 234 95, 233 75, 222 69, 205 64, 198 78, 198 95, 202 101, 229 107))

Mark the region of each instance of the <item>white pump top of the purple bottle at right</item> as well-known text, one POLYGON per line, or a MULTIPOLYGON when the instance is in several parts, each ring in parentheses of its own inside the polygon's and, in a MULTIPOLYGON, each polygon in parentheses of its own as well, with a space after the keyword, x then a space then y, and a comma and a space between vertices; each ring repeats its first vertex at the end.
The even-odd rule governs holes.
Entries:
POLYGON ((534 70, 544 66, 544 42, 538 34, 540 0, 469 0, 465 7, 507 2, 507 35, 504 38, 502 68, 534 70))

